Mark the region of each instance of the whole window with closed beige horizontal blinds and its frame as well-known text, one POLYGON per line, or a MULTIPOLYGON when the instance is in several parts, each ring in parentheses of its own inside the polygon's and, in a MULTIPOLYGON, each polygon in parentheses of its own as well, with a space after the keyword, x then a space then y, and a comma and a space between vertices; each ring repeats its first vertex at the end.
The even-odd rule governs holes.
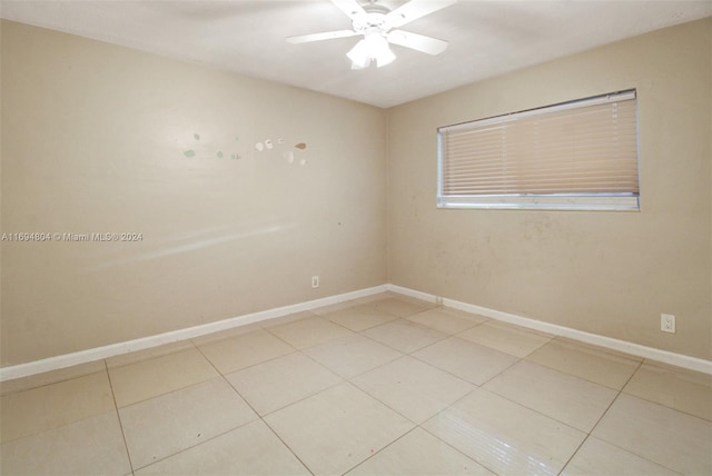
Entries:
POLYGON ((637 210, 635 90, 442 127, 437 206, 637 210))

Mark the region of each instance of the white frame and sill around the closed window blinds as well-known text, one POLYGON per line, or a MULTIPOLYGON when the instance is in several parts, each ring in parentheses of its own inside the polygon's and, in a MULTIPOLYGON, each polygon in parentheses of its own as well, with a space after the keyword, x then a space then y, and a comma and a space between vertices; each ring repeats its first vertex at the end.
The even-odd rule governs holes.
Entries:
MULTIPOLYGON (((556 105, 527 109, 467 122, 439 127, 437 129, 437 208, 464 209, 542 209, 542 210, 604 210, 604 211, 640 211, 640 140, 637 117, 637 92, 635 89, 599 95, 556 105), (635 173, 637 192, 562 192, 562 194, 472 194, 443 195, 444 143, 443 135, 453 130, 474 130, 478 127, 511 122, 518 118, 544 116, 570 109, 605 105, 620 101, 634 101, 635 121, 635 173)), ((629 156, 630 157, 630 156, 629 156)))

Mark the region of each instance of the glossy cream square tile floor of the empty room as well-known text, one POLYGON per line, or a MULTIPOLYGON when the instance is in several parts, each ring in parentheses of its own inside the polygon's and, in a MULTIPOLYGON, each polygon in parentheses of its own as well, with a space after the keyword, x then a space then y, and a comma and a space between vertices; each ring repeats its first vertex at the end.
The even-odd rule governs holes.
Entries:
POLYGON ((712 474, 712 376, 395 295, 1 390, 2 475, 712 474))

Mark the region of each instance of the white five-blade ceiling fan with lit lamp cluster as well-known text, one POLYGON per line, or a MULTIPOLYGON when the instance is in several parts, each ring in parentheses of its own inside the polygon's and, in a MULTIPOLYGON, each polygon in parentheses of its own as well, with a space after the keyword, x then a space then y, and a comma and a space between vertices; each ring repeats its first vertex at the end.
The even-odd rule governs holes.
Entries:
POLYGON ((364 69, 373 60, 378 68, 389 65, 396 59, 388 43, 411 48, 428 54, 439 54, 447 48, 447 41, 426 37, 411 31, 398 30, 402 26, 449 7, 457 0, 411 0, 390 10, 384 4, 370 0, 362 6, 356 0, 332 0, 352 20, 350 30, 327 31, 324 33, 289 37, 290 43, 333 40, 336 38, 357 37, 363 39, 346 56, 352 60, 352 69, 364 69))

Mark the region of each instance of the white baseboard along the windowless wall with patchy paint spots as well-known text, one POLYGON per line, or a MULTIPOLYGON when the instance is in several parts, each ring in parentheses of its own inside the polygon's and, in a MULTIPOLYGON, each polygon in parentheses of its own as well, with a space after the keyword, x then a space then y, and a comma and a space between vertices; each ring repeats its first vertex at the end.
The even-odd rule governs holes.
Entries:
POLYGON ((388 290, 388 286, 382 285, 373 288, 360 289, 357 291, 345 292, 342 295, 315 299, 306 303, 298 303, 289 306, 267 309, 259 313, 246 314, 244 316, 231 317, 229 319, 222 319, 215 323, 202 324, 200 326, 188 327, 186 329, 178 329, 169 333, 158 334, 155 336, 141 337, 139 339, 128 340, 125 343, 111 344, 103 347, 96 347, 92 349, 80 350, 71 354, 65 354, 57 357, 49 357, 46 359, 29 361, 26 364, 2 367, 0 368, 0 381, 12 380, 14 378, 27 377, 30 375, 41 374, 50 370, 58 370, 60 368, 71 367, 79 364, 87 364, 95 360, 101 360, 105 358, 128 354, 136 350, 144 350, 151 347, 162 346, 165 344, 191 339, 195 337, 200 337, 200 336, 205 336, 212 333, 218 333, 220 330, 227 330, 235 327, 240 327, 240 326, 246 326, 248 324, 274 319, 277 317, 287 316, 295 313, 303 313, 305 310, 330 306, 334 304, 344 303, 352 299, 358 299, 358 298, 376 295, 379 292, 386 292, 387 290, 388 290))

